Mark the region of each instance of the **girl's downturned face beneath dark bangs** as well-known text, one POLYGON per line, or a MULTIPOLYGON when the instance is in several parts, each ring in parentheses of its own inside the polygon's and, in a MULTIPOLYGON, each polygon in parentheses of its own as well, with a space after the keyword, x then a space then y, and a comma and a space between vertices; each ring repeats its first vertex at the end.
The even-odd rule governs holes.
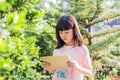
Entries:
POLYGON ((65 42, 65 45, 73 45, 73 30, 63 30, 59 31, 60 38, 65 42))

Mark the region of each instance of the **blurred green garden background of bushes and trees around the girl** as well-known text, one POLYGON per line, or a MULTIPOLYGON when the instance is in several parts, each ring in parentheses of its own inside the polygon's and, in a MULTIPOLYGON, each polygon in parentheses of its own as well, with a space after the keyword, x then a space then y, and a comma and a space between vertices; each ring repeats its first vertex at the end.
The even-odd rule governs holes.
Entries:
POLYGON ((64 14, 78 21, 93 77, 120 76, 119 0, 0 0, 0 80, 51 80, 40 57, 56 45, 55 26, 64 14))

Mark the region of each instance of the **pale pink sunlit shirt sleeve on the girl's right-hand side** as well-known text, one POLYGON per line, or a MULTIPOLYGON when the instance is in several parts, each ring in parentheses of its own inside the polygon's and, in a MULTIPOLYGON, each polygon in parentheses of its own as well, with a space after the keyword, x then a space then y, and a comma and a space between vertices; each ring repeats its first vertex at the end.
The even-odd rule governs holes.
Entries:
POLYGON ((84 45, 82 49, 83 67, 92 71, 91 58, 88 48, 84 45))

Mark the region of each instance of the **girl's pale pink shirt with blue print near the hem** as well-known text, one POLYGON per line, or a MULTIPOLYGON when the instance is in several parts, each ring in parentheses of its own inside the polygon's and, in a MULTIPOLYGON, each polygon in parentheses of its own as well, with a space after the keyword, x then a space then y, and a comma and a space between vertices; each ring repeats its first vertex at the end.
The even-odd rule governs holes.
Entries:
MULTIPOLYGON (((77 61, 80 66, 92 70, 89 51, 85 45, 75 47, 63 46, 55 49, 53 55, 67 55, 71 60, 77 61)), ((83 80, 83 77, 84 74, 80 71, 66 68, 56 70, 52 80, 83 80)))

